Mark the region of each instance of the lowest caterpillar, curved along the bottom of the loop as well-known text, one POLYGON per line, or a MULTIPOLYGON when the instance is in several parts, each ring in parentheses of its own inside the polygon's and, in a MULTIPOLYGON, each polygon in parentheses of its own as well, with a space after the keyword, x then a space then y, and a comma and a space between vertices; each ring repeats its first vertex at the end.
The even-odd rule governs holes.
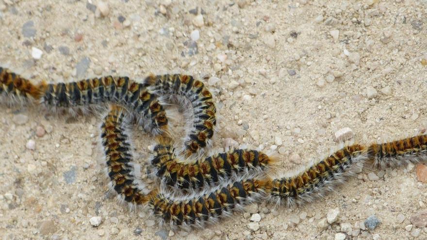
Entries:
POLYGON ((200 228, 263 199, 268 182, 263 179, 238 178, 211 190, 181 198, 159 194, 151 200, 149 206, 154 215, 161 218, 161 224, 170 224, 172 228, 200 228))

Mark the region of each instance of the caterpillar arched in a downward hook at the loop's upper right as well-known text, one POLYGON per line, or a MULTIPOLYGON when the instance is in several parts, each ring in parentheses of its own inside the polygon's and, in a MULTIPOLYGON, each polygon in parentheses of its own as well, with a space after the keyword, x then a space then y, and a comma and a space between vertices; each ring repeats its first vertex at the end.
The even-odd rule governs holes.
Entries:
POLYGON ((190 129, 180 153, 188 158, 209 145, 216 125, 216 107, 211 92, 203 82, 182 74, 150 76, 147 81, 155 82, 152 86, 158 95, 168 96, 170 101, 178 101, 181 104, 183 97, 193 107, 193 122, 188 126, 190 129))

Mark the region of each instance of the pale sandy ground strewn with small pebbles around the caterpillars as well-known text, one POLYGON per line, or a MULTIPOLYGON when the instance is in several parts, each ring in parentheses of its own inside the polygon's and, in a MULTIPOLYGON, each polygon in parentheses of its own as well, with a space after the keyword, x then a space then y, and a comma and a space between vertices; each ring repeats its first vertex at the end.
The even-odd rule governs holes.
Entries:
MULTIPOLYGON (((341 128, 366 143, 427 127, 426 9, 426 0, 0 0, 0 62, 34 81, 204 78, 221 115, 214 147, 231 138, 277 148, 279 175, 328 154, 341 128)), ((94 115, 2 105, 2 239, 427 239, 410 222, 427 204, 413 165, 365 167, 304 207, 263 203, 202 230, 169 231, 107 194, 98 125, 94 115), (249 224, 256 213, 261 221, 249 224), (381 224, 368 230, 373 214, 381 224)), ((152 138, 135 129, 134 139, 144 159, 152 138)))

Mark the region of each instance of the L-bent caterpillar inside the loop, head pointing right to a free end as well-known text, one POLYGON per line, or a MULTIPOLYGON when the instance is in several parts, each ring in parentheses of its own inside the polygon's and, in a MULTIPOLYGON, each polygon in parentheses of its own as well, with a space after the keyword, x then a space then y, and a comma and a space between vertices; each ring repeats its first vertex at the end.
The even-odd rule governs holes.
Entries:
POLYGON ((159 136, 156 140, 151 159, 154 173, 167 186, 179 189, 199 190, 218 185, 233 176, 262 175, 275 162, 275 157, 263 152, 233 149, 198 159, 195 163, 182 163, 176 158, 171 138, 159 136))

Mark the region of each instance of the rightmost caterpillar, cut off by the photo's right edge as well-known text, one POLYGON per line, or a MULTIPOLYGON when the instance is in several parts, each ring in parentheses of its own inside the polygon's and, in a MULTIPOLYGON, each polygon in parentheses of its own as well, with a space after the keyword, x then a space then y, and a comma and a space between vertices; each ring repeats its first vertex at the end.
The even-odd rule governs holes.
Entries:
POLYGON ((371 144, 369 155, 374 166, 396 167, 427 160, 427 134, 383 144, 371 144))

